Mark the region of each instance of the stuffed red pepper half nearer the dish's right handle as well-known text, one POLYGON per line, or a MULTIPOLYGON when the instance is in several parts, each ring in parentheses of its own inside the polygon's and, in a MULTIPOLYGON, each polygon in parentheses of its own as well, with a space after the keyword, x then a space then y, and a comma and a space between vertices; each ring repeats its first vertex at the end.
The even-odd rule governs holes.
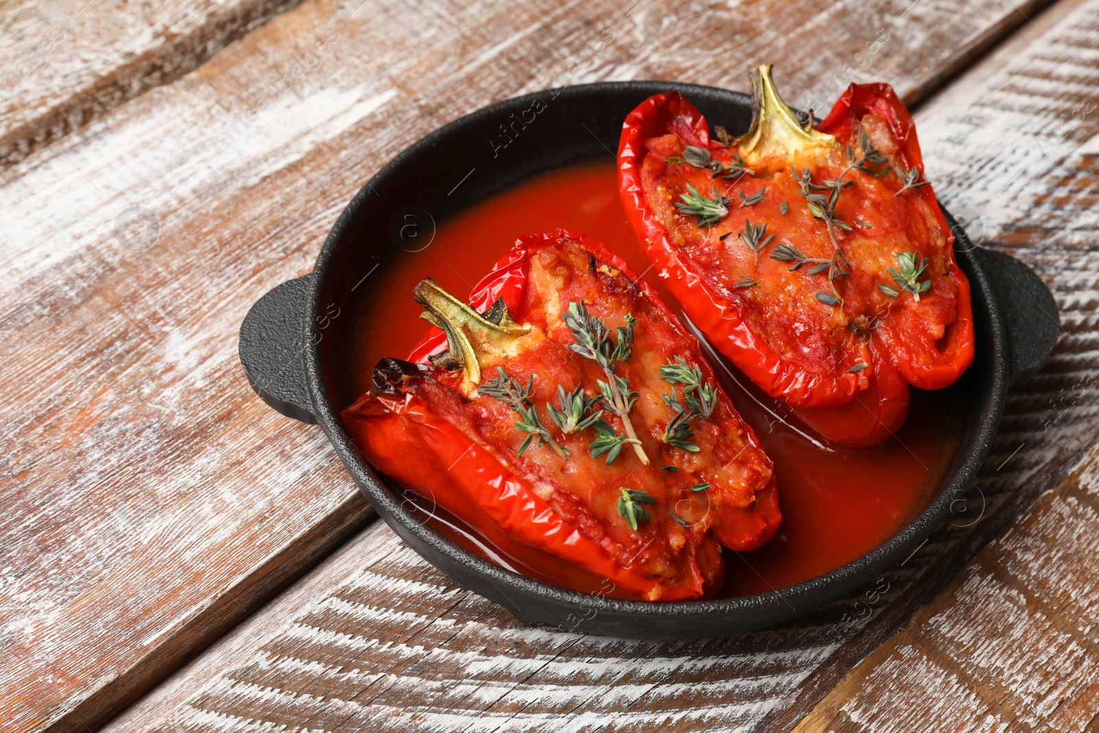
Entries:
POLYGON ((820 125, 752 73, 754 119, 711 137, 679 92, 626 118, 626 216, 713 345, 801 421, 864 447, 904 421, 909 386, 973 360, 969 284, 912 118, 887 85, 852 85, 820 125))

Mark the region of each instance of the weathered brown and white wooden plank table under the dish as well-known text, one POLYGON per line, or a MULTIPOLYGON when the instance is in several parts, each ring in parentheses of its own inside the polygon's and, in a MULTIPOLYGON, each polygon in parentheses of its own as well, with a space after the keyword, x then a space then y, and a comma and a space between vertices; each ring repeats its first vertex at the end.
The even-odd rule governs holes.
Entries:
POLYGON ((0 731, 1099 730, 1099 0, 0 18, 0 731), (441 123, 765 62, 801 107, 891 82, 940 197, 1050 284, 1064 335, 880 598, 704 642, 524 628, 255 397, 240 322, 441 123))

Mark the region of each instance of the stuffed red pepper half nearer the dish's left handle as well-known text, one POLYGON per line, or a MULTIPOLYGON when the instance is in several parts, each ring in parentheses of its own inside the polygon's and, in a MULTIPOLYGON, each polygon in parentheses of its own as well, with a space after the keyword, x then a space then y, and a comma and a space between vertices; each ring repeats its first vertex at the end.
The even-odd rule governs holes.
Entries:
POLYGON ((602 245, 522 237, 343 412, 377 469, 502 548, 534 547, 647 600, 712 596, 721 545, 779 523, 771 463, 698 342, 602 245))

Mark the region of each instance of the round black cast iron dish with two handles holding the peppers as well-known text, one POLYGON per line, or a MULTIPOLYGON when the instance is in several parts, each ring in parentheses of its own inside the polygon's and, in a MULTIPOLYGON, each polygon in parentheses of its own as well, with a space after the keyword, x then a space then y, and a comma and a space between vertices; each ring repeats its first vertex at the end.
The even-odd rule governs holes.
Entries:
POLYGON ((349 338, 369 275, 398 248, 414 251, 415 235, 425 236, 422 227, 477 200, 570 162, 613 155, 626 114, 669 89, 733 133, 748 126, 752 103, 744 95, 656 81, 569 87, 478 110, 419 141, 371 178, 336 221, 313 271, 264 296, 241 326, 241 362, 256 392, 282 414, 320 423, 358 487, 424 558, 528 622, 614 636, 699 638, 779 623, 856 590, 950 517, 988 453, 1008 387, 1031 376, 1057 341, 1056 306, 1037 276, 1017 259, 976 248, 946 214, 973 288, 977 337, 976 358, 957 388, 968 425, 957 457, 928 508, 892 538, 796 586, 711 601, 600 598, 503 569, 425 526, 403 491, 363 459, 340 419, 358 397, 348 377, 349 338))

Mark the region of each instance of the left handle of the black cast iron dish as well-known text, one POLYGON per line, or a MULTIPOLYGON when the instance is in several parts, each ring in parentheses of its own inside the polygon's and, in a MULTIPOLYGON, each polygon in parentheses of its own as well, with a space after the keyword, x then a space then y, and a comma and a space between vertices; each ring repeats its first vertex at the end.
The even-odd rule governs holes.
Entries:
POLYGON ((306 301, 313 274, 274 287, 241 323, 238 354, 256 395, 276 412, 317 424, 306 382, 306 301))

